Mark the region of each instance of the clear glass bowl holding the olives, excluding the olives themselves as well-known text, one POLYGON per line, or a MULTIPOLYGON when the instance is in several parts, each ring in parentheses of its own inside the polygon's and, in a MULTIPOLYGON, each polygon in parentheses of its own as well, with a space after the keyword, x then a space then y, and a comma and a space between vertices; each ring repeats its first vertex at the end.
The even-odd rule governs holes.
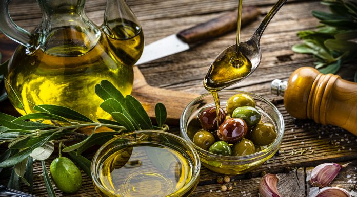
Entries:
POLYGON ((242 91, 224 90, 219 92, 221 107, 225 110, 227 100, 231 96, 239 93, 245 93, 254 98, 256 102, 256 108, 262 114, 262 122, 272 123, 276 128, 277 137, 275 141, 268 147, 251 155, 233 157, 212 154, 211 152, 196 146, 191 140, 194 133, 188 133, 187 127, 190 121, 197 118, 197 114, 200 112, 200 110, 206 107, 215 106, 213 96, 211 94, 205 94, 197 97, 187 105, 183 114, 181 115, 181 137, 187 140, 197 150, 202 164, 215 172, 223 174, 242 174, 249 172, 271 158, 276 153, 276 151, 279 150, 283 140, 283 116, 271 102, 264 99, 263 97, 242 91))

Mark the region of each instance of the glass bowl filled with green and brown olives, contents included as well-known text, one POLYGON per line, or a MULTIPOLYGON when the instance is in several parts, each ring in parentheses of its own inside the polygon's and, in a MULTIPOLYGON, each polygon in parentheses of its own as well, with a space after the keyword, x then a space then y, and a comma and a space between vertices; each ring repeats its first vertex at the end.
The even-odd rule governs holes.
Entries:
POLYGON ((180 120, 181 136, 207 168, 223 174, 249 172, 279 150, 283 116, 271 102, 252 93, 224 90, 219 96, 220 116, 211 94, 187 105, 180 120))

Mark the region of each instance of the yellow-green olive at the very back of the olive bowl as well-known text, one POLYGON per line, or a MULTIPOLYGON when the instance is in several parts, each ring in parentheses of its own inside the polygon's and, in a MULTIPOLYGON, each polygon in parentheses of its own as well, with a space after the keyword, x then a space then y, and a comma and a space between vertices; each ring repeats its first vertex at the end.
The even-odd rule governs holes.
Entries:
POLYGON ((247 94, 233 95, 227 100, 227 113, 229 115, 232 115, 235 108, 242 106, 255 107, 255 101, 251 96, 247 94))

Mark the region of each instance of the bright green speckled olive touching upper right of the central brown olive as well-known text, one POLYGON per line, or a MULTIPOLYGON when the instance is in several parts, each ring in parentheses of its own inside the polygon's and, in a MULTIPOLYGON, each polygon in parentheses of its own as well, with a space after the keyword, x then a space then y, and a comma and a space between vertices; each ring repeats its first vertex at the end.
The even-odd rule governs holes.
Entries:
POLYGON ((248 126, 254 126, 259 123, 262 115, 256 110, 256 108, 251 106, 237 107, 232 115, 233 118, 243 119, 248 126))

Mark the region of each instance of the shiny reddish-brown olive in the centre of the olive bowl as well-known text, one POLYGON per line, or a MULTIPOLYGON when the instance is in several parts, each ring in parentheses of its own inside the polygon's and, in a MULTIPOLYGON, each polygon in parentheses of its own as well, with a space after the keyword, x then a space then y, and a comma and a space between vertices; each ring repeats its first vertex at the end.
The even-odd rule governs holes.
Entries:
POLYGON ((240 141, 248 132, 247 123, 241 118, 230 118, 224 121, 217 130, 217 136, 230 144, 240 141))

